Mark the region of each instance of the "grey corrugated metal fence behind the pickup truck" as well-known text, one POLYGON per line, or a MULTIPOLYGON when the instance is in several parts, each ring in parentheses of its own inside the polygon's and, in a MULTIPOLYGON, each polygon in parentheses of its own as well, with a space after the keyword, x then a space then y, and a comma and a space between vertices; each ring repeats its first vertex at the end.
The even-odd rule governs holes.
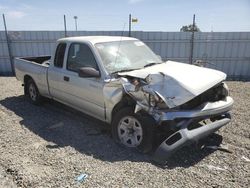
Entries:
MULTIPOLYGON (((122 35, 121 31, 71 31, 68 36, 122 35)), ((128 33, 124 32, 127 36, 128 33)), ((132 32, 164 60, 189 62, 191 33, 132 32)), ((50 55, 63 31, 11 31, 14 57, 50 55)), ((207 61, 207 67, 222 70, 235 80, 250 79, 250 32, 200 32, 194 36, 193 60, 207 61)), ((11 73, 4 31, 0 31, 0 75, 11 73)))

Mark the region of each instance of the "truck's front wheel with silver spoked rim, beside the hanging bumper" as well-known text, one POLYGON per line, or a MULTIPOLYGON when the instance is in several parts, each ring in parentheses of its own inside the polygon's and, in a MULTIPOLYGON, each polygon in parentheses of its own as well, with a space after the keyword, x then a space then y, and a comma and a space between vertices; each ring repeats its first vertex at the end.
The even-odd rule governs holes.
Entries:
POLYGON ((114 140, 126 147, 148 153, 154 145, 155 121, 149 115, 135 114, 131 107, 121 109, 112 121, 114 140))

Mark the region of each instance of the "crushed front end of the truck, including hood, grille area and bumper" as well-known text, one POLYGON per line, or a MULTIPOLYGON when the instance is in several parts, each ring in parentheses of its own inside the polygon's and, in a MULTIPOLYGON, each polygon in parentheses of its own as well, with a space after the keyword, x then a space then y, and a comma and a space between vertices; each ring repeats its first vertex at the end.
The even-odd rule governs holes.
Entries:
MULTIPOLYGON (((159 71, 171 70, 173 66, 179 65, 170 62, 159 65, 157 71, 144 69, 119 74, 126 79, 122 83, 124 91, 136 102, 135 113, 147 112, 155 119, 158 128, 171 130, 154 153, 153 159, 159 164, 165 164, 176 150, 198 142, 231 120, 228 111, 233 99, 228 96, 228 88, 223 83, 224 73, 209 70, 207 76, 213 78, 201 79, 203 85, 190 78, 186 81, 183 75, 178 77, 172 72, 159 71)), ((204 68, 197 68, 204 72, 204 68)), ((197 68, 192 66, 192 71, 197 68)))

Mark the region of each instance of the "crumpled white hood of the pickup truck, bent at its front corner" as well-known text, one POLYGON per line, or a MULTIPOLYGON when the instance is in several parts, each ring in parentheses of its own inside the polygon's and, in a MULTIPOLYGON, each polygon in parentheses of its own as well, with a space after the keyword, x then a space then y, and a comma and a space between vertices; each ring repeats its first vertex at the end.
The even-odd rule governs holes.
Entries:
POLYGON ((188 102, 226 79, 221 71, 174 61, 118 74, 145 79, 148 85, 144 90, 157 93, 169 108, 188 102))

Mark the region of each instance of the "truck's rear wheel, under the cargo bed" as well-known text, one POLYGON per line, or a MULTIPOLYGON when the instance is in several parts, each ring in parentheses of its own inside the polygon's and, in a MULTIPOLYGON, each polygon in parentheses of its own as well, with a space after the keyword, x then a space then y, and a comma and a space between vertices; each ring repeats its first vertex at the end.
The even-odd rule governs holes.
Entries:
POLYGON ((42 96, 40 95, 35 82, 30 79, 27 81, 26 93, 29 101, 32 104, 39 105, 42 102, 42 96))

